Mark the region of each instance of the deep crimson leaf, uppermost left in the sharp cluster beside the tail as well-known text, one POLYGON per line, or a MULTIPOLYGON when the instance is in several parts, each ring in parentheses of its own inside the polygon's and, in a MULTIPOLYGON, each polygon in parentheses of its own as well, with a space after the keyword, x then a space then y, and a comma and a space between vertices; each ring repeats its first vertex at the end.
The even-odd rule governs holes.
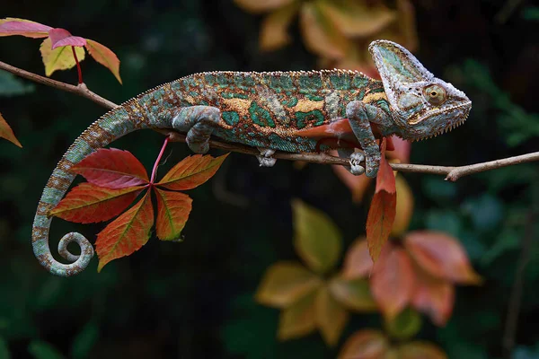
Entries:
POLYGON ((144 165, 128 151, 100 148, 78 162, 71 171, 106 188, 128 188, 148 183, 144 165))

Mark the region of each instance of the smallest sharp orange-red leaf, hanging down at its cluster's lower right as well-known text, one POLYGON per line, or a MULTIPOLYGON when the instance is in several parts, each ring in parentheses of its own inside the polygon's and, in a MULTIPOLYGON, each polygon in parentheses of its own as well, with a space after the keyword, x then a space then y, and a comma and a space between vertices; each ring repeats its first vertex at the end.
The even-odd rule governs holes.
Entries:
POLYGON ((155 196, 157 197, 157 222, 155 224, 157 237, 162 241, 178 240, 189 217, 192 199, 183 193, 159 188, 155 188, 155 196))

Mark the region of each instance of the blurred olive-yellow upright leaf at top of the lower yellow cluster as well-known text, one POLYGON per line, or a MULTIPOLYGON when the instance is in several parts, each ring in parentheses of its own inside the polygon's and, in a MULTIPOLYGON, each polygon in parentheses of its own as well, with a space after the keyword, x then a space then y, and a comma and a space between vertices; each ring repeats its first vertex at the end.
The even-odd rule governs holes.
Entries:
POLYGON ((292 209, 297 254, 315 272, 326 273, 340 258, 339 229, 328 215, 298 199, 292 202, 292 209))

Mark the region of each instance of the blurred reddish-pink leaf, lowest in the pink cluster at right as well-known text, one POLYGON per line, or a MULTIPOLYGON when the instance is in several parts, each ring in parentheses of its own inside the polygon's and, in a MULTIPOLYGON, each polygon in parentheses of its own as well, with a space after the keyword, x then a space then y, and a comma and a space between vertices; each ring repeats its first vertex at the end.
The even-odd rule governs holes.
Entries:
POLYGON ((422 270, 419 271, 416 290, 411 299, 414 308, 429 315, 438 327, 443 327, 451 318, 454 302, 453 284, 422 273, 422 270))

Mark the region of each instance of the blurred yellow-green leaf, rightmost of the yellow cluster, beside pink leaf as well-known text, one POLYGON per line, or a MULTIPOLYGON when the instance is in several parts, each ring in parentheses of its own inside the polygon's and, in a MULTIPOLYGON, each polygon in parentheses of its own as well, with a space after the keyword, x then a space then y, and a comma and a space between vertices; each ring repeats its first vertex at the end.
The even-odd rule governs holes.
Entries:
POLYGON ((345 279, 334 277, 330 282, 330 291, 348 309, 353 311, 376 311, 376 302, 365 279, 345 279))

